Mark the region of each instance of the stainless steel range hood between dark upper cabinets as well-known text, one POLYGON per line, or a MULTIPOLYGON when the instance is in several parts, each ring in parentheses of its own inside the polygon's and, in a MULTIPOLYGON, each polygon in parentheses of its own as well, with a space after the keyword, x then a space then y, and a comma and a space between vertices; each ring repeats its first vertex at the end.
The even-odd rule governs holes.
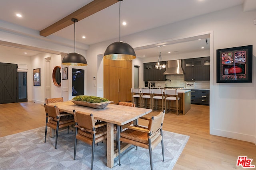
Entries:
POLYGON ((181 67, 181 60, 167 61, 167 68, 164 72, 165 75, 168 74, 184 74, 181 67))

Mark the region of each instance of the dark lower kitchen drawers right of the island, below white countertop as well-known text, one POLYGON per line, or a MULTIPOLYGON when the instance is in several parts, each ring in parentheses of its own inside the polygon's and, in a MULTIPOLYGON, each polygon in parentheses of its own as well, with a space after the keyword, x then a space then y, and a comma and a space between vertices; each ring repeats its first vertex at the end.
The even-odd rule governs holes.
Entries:
POLYGON ((191 104, 209 105, 210 90, 191 90, 191 104))

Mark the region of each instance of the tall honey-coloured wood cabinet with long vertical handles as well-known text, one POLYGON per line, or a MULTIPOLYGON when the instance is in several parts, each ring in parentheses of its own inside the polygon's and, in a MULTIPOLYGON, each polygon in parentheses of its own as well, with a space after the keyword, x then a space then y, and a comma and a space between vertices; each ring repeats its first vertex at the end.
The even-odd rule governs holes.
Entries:
POLYGON ((132 100, 132 61, 104 59, 104 98, 118 104, 132 100))

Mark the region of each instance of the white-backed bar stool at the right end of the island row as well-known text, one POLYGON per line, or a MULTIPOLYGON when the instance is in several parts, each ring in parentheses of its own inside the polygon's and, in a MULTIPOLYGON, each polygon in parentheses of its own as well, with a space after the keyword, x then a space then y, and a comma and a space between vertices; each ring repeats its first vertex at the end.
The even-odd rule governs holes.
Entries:
POLYGON ((177 91, 177 89, 165 89, 164 90, 164 95, 165 95, 165 109, 166 109, 166 111, 167 111, 167 108, 168 108, 168 110, 170 109, 170 106, 171 106, 171 101, 176 101, 176 104, 175 104, 175 106, 176 106, 176 115, 178 115, 179 113, 180 113, 180 110, 181 110, 181 101, 180 101, 180 97, 178 97, 178 91, 177 91), (168 103, 169 103, 169 105, 168 105, 168 107, 167 107, 167 101, 169 101, 168 103), (179 105, 179 107, 178 107, 178 105, 179 105), (179 111, 178 111, 178 108, 180 108, 179 109, 179 111))

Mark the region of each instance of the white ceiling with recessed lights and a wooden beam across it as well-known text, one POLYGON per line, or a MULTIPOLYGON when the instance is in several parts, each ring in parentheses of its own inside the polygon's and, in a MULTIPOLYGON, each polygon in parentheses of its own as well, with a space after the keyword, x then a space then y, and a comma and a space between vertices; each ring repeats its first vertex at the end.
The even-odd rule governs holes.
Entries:
MULTIPOLYGON (((255 0, 123 0, 121 1, 121 22, 126 21, 127 25, 121 25, 121 37, 248 1, 255 0)), ((1 0, 1 7, 4 8, 0 10, 0 20, 34 29, 39 34, 42 29, 90 2, 92 0, 1 0), (22 14, 22 18, 17 18, 16 13, 22 14)), ((74 41, 74 25, 52 35, 74 41)), ((92 45, 118 37, 119 3, 76 23, 76 42, 92 45), (82 39, 83 35, 86 39, 82 39)), ((199 48, 203 41, 197 41, 201 43, 198 45, 199 48)), ((192 44, 195 45, 195 42, 192 44)), ((175 51, 185 50, 184 45, 182 49, 175 47, 175 51)), ((162 49, 164 50, 164 47, 162 49)), ((2 50, 4 48, 0 47, 0 52, 2 50)), ((141 55, 140 52, 136 51, 138 57, 141 55)), ((159 53, 159 49, 156 52, 159 53)))

